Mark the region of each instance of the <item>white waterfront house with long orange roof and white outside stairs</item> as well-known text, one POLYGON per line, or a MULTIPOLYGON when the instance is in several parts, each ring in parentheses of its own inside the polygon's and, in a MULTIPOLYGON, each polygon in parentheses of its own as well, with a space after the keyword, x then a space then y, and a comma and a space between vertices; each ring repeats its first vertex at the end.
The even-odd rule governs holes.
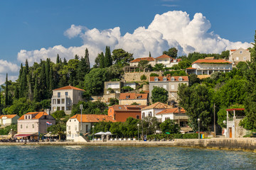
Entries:
POLYGON ((88 142, 85 135, 91 132, 92 125, 100 121, 115 122, 115 120, 108 115, 73 115, 66 123, 67 140, 74 142, 88 142))

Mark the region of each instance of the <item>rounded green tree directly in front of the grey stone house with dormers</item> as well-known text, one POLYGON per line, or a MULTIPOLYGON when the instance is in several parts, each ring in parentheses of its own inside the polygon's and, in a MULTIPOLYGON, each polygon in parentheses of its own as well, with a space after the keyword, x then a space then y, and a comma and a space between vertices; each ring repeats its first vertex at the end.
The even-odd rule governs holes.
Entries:
POLYGON ((166 103, 168 100, 168 91, 162 87, 154 86, 151 96, 152 102, 166 103))

